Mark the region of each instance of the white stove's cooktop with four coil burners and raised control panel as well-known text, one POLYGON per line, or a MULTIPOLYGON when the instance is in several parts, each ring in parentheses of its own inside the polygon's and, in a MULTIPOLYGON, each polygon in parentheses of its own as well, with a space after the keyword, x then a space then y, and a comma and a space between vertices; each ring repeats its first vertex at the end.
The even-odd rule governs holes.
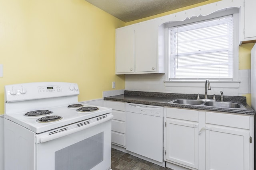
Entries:
POLYGON ((6 85, 4 89, 5 118, 34 133, 42 133, 112 111, 106 107, 79 103, 76 83, 32 82, 6 85), (72 107, 68 108, 68 105, 72 107), (78 108, 81 108, 79 112, 76 111, 78 108), (93 111, 87 111, 88 109, 93 111), (36 110, 36 115, 48 112, 50 114, 32 117, 28 113, 36 110), (26 113, 28 115, 25 116, 26 113), (54 121, 49 122, 52 117, 54 121))

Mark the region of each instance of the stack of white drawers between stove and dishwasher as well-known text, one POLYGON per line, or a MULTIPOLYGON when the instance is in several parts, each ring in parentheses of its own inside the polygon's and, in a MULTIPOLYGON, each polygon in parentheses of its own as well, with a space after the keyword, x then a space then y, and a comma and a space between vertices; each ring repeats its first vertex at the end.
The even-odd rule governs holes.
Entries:
POLYGON ((125 102, 106 100, 106 107, 112 108, 112 144, 126 147, 125 102))

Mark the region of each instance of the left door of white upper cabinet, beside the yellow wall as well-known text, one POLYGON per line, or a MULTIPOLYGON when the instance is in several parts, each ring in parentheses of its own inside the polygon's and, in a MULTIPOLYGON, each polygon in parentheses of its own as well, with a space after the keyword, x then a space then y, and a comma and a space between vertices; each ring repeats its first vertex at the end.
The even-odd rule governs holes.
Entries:
POLYGON ((116 74, 134 72, 134 25, 116 29, 116 74))

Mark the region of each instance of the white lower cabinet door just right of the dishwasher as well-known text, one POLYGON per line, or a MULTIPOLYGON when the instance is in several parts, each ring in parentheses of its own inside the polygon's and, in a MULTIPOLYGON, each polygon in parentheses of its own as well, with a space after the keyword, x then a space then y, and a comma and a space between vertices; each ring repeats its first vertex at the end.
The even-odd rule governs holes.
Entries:
POLYGON ((198 124, 166 119, 166 160, 198 169, 198 124))

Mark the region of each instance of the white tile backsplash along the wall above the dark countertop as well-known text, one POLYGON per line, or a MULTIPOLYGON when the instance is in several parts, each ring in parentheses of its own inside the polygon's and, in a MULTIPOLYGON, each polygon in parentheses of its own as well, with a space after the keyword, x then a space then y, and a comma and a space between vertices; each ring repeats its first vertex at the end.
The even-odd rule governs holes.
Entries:
MULTIPOLYGON (((164 85, 164 74, 133 74, 125 76, 125 89, 148 92, 167 92, 181 94, 204 94, 202 87, 167 87, 164 85)), ((239 88, 214 88, 208 90, 208 94, 220 94, 227 96, 242 96, 251 93, 251 70, 239 70, 239 88)))

